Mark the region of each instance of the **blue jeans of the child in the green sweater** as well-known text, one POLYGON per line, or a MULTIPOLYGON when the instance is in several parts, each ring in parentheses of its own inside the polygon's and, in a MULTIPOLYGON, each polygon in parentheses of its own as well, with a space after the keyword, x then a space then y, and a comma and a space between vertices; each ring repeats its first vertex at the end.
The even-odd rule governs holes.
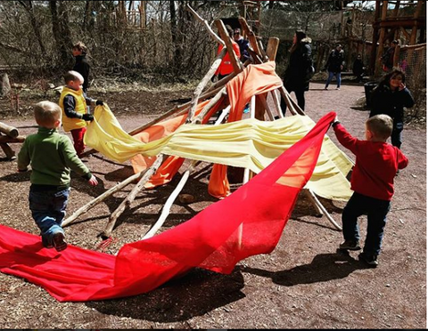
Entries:
POLYGON ((52 243, 55 233, 62 232, 61 224, 65 217, 65 209, 69 201, 70 189, 60 191, 29 190, 29 209, 41 236, 52 243))

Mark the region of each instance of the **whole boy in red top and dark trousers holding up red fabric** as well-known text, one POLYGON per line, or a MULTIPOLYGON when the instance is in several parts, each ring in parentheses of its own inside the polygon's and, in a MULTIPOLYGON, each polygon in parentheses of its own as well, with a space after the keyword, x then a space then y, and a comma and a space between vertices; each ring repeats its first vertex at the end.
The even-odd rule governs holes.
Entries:
POLYGON ((371 267, 378 265, 377 255, 381 251, 386 214, 394 194, 394 178, 399 169, 404 169, 407 157, 386 141, 391 136, 392 118, 376 115, 366 120, 366 140, 360 141, 346 131, 336 119, 334 133, 338 141, 355 154, 350 188, 352 197, 343 209, 342 224, 345 241, 339 246, 343 250, 359 250, 358 216, 367 215, 367 234, 363 252, 358 258, 371 267))

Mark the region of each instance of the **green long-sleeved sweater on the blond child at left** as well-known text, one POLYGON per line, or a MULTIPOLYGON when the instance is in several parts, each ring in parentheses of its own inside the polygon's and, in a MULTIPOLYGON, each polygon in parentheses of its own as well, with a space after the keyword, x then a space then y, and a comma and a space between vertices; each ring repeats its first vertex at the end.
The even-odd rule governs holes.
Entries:
POLYGON ((70 138, 56 129, 39 126, 38 132, 29 135, 18 153, 18 170, 26 171, 31 164, 33 185, 70 187, 70 171, 89 180, 92 174, 78 158, 70 138))

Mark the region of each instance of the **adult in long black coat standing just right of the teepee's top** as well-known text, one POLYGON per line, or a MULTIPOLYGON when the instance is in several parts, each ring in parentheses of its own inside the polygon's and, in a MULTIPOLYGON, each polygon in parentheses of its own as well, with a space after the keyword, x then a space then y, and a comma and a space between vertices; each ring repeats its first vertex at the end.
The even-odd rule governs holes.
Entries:
MULTIPOLYGON (((309 80, 314 73, 312 66, 311 39, 303 31, 297 30, 292 38, 290 61, 284 73, 284 87, 296 94, 297 104, 305 109, 305 91, 309 91, 309 80)), ((286 104, 281 101, 281 108, 285 114, 286 104)))

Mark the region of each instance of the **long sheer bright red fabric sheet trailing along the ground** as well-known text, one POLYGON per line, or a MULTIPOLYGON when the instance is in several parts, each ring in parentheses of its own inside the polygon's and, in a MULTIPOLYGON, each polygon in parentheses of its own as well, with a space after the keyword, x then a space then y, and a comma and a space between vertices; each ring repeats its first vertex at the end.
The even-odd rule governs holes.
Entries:
POLYGON ((61 302, 139 295, 193 267, 230 273, 244 258, 275 248, 334 117, 321 118, 227 198, 158 236, 123 246, 117 256, 76 246, 58 253, 45 249, 38 236, 0 225, 0 270, 44 287, 61 302))

